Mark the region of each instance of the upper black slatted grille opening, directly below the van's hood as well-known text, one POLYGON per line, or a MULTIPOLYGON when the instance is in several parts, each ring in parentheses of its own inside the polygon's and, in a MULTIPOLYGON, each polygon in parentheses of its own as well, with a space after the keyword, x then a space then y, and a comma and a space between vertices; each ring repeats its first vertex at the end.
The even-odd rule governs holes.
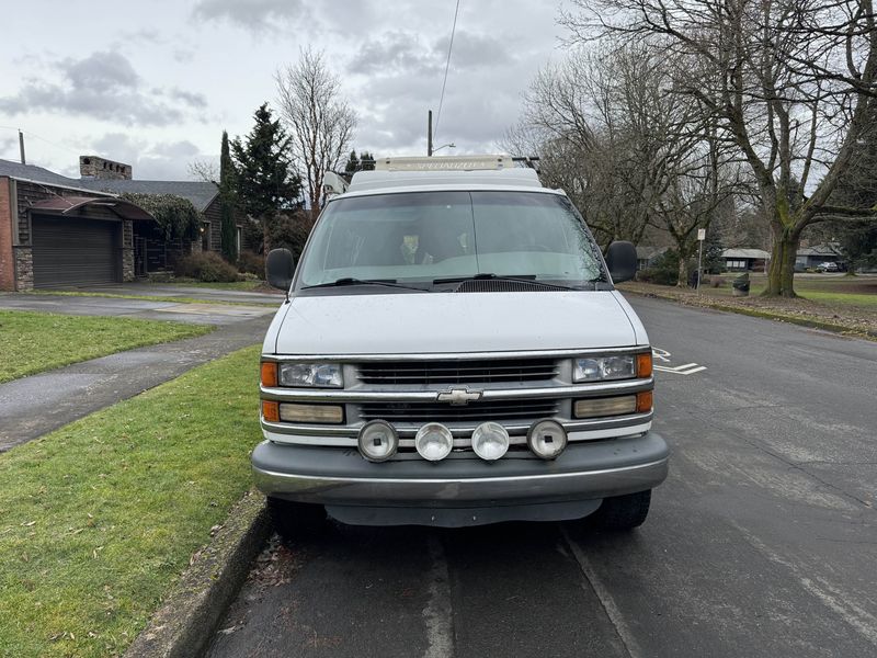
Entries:
POLYGON ((545 382, 557 376, 554 359, 385 361, 358 364, 364 384, 490 384, 545 382))

